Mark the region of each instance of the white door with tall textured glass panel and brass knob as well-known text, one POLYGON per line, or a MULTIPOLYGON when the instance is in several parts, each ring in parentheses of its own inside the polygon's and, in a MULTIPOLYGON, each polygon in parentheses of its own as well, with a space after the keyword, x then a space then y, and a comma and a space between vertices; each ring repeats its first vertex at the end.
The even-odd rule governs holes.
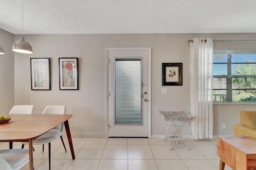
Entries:
POLYGON ((148 137, 151 53, 121 49, 108 50, 108 136, 148 137))

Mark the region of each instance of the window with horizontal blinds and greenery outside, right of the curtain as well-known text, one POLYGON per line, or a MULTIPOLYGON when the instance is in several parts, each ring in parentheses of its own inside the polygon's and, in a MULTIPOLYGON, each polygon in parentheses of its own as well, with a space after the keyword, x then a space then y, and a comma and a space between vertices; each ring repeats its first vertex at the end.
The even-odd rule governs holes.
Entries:
POLYGON ((213 102, 256 102, 256 50, 213 51, 213 102))

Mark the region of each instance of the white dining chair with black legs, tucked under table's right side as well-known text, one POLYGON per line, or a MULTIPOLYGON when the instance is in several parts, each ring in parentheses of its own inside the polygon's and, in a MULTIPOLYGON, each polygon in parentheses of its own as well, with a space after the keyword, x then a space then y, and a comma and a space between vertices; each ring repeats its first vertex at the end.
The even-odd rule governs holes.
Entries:
MULTIPOLYGON (((44 108, 43 114, 66 114, 66 106, 46 106, 44 108)), ((64 131, 64 123, 54 127, 50 131, 44 133, 40 137, 33 140, 33 145, 43 145, 43 152, 44 152, 44 144, 48 143, 49 148, 49 170, 51 168, 51 142, 60 137, 62 144, 64 146, 65 151, 66 147, 62 138, 62 134, 64 131)), ((23 144, 27 144, 28 142, 22 142, 23 144)), ((22 145, 22 148, 24 145, 22 145)))

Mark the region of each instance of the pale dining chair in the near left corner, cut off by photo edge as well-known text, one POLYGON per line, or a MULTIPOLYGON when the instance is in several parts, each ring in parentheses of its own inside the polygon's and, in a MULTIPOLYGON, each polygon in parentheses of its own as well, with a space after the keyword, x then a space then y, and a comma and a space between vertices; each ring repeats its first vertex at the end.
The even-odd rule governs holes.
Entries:
POLYGON ((28 162, 28 149, 0 150, 0 170, 19 170, 28 162))

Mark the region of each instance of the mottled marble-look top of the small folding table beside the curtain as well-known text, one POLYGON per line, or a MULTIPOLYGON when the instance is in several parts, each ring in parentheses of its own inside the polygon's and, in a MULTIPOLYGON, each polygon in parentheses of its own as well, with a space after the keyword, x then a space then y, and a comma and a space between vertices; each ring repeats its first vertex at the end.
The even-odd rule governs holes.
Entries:
POLYGON ((197 118, 196 116, 191 115, 186 111, 159 111, 159 112, 166 121, 174 121, 174 120, 193 121, 197 118))

